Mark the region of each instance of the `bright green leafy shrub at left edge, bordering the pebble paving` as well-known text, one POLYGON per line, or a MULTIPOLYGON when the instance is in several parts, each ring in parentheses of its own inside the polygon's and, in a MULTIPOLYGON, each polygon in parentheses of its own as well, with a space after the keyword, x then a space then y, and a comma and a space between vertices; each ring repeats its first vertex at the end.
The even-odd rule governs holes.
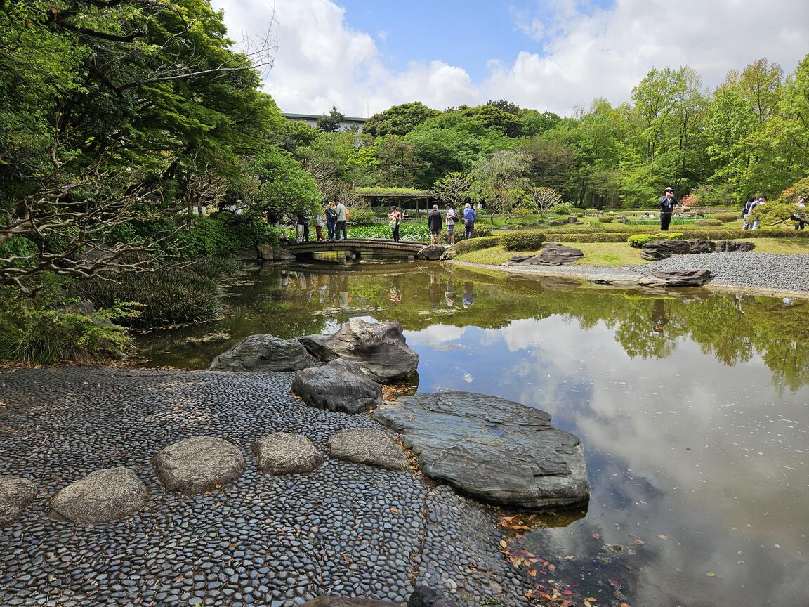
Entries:
POLYGON ((121 358, 129 349, 126 331, 111 320, 137 316, 131 304, 98 312, 44 309, 18 299, 0 309, 0 359, 51 364, 121 358))

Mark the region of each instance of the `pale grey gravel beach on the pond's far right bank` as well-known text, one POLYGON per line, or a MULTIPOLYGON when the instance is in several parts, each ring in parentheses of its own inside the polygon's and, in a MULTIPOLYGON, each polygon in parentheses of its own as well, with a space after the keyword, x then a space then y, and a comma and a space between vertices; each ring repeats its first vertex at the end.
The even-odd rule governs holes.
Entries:
POLYGON ((709 285, 739 287, 761 291, 781 291, 809 294, 809 254, 779 255, 776 253, 704 253, 701 255, 672 255, 661 261, 642 265, 557 265, 504 267, 502 265, 466 264, 492 270, 544 276, 590 278, 599 274, 638 277, 657 270, 693 270, 706 268, 714 274, 709 285))

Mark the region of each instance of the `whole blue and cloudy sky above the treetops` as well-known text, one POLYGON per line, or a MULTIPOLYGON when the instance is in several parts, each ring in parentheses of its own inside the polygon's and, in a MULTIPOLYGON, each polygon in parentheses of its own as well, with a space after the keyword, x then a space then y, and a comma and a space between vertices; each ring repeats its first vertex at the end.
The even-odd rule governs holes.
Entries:
POLYGON ((713 90, 767 57, 809 53, 809 0, 212 0, 231 38, 273 39, 264 90, 282 112, 368 117, 506 99, 563 116, 629 101, 653 67, 713 90))

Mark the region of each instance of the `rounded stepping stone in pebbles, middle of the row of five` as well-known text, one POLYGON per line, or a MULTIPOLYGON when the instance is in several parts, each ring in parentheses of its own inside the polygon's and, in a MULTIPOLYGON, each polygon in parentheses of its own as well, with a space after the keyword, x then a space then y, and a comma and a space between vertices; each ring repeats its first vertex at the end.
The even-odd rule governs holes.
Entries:
POLYGON ((167 490, 189 495, 235 481, 245 467, 235 444, 212 436, 180 440, 163 448, 152 463, 167 490))

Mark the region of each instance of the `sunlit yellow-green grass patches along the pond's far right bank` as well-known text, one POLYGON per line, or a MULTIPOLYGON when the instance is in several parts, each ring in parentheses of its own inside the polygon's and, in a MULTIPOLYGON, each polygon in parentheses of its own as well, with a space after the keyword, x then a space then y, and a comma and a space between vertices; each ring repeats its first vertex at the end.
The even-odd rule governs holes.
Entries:
MULTIPOLYGON (((788 238, 753 238, 745 240, 756 244, 754 253, 809 253, 809 241, 788 238)), ((626 243, 565 243, 578 248, 584 257, 577 264, 585 265, 636 265, 646 264, 641 257, 641 249, 632 248, 626 243)), ((506 251, 502 247, 483 248, 456 257, 458 261, 469 263, 502 265, 515 255, 532 255, 538 251, 506 251)))

